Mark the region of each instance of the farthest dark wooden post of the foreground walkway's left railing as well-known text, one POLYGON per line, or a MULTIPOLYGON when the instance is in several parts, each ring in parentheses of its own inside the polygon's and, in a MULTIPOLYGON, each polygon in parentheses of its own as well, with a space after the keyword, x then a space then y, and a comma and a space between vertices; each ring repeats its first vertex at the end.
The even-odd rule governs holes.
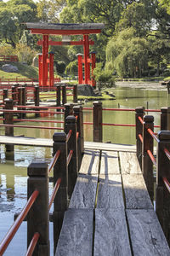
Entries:
POLYGON ((82 155, 84 154, 84 131, 83 131, 83 112, 82 106, 73 107, 74 115, 77 117, 77 132, 79 133, 77 141, 78 151, 78 170, 82 163, 82 155))

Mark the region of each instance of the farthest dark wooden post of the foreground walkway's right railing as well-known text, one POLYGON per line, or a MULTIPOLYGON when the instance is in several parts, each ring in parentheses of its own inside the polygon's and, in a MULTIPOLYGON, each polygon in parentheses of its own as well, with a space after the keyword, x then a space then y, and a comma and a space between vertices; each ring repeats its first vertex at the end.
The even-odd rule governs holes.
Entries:
POLYGON ((136 154, 139 160, 139 166, 142 169, 142 143, 139 139, 139 134, 142 135, 143 132, 143 125, 139 121, 139 117, 143 119, 144 117, 144 107, 139 107, 135 109, 136 115, 136 154))

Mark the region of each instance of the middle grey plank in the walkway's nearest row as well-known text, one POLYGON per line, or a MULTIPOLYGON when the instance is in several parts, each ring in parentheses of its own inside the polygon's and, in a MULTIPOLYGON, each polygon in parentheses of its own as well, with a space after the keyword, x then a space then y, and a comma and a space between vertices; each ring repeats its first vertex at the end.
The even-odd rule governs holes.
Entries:
POLYGON ((132 255, 125 212, 122 210, 95 210, 94 256, 103 255, 132 255))

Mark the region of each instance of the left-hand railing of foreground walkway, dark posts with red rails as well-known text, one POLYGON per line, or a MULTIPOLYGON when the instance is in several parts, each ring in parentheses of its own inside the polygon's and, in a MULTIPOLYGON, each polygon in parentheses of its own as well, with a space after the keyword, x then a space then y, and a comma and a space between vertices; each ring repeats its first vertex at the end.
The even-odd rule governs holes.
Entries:
MULTIPOLYGON (((77 111, 75 112, 75 114, 77 111)), ((54 247, 59 239, 64 213, 74 189, 78 166, 82 154, 80 143, 80 114, 65 118, 65 132, 54 133, 54 158, 49 164, 32 162, 28 166, 28 201, 26 207, 16 218, 13 226, 0 244, 3 255, 22 221, 27 220, 26 255, 49 255, 49 210, 54 202, 54 247), (78 156, 79 155, 79 156, 78 156), (48 174, 54 169, 54 190, 48 200, 48 174)))

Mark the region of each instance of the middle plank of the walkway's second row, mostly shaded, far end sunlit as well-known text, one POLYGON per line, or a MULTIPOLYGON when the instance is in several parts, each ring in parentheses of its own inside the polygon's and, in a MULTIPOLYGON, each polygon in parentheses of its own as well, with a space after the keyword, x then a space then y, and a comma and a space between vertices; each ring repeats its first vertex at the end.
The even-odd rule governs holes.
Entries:
POLYGON ((124 208, 121 175, 99 175, 97 208, 124 208))

